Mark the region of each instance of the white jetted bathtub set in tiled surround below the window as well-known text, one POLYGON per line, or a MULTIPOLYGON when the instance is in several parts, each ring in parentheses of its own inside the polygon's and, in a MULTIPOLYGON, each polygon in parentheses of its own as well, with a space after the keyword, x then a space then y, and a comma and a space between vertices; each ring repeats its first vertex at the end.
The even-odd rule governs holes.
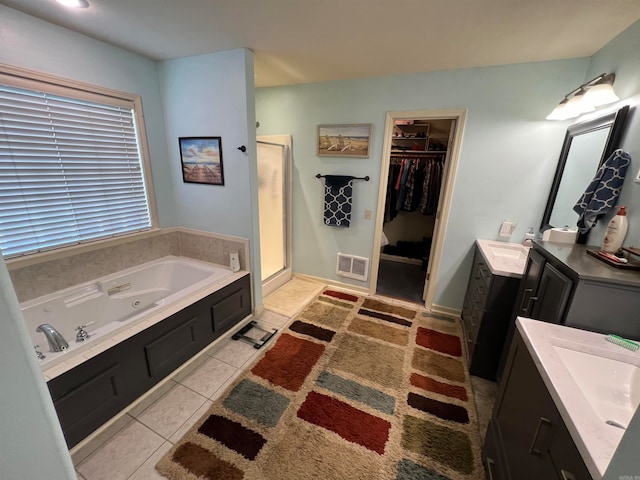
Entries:
MULTIPOLYGON (((40 365, 53 379, 116 343, 154 325, 247 272, 186 257, 167 256, 20 304, 40 365), (48 323, 69 343, 49 351, 38 325, 48 323), (76 342, 85 325, 89 338, 76 342)), ((34 353, 35 354, 35 353, 34 353)))

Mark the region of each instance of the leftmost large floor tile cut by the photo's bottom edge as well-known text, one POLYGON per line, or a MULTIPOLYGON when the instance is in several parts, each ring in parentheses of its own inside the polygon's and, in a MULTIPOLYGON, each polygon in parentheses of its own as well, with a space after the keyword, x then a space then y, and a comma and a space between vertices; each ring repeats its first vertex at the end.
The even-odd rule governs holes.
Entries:
POLYGON ((86 480, 126 480, 164 443, 164 439, 133 421, 78 465, 86 480))

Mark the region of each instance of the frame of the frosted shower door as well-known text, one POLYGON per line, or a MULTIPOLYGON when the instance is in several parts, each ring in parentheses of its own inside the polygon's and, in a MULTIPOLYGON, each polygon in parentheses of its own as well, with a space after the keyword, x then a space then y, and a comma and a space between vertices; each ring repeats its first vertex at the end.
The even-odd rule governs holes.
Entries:
MULTIPOLYGON (((284 267, 262 281, 262 296, 266 297, 271 292, 287 283, 292 278, 291 269, 291 135, 258 135, 257 144, 271 145, 282 148, 283 155, 283 196, 284 196, 284 267), (282 142, 282 143, 281 143, 282 142)), ((257 155, 257 145, 256 145, 257 155)), ((258 199, 258 202, 260 200, 258 199)), ((260 217, 260 204, 258 203, 258 216, 260 217)), ((262 240, 261 240, 262 241, 262 240)), ((262 272, 262 254, 260 258, 260 271, 262 272)), ((261 273, 262 275, 262 273, 261 273)))

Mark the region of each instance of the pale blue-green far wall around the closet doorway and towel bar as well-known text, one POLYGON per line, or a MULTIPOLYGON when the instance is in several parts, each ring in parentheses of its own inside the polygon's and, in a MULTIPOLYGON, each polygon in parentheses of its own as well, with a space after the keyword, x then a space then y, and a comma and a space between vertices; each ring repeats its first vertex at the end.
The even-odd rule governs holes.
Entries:
POLYGON ((517 220, 512 241, 538 227, 566 123, 546 115, 584 81, 588 59, 452 70, 256 90, 258 133, 292 134, 293 269, 363 286, 335 275, 338 252, 373 255, 385 114, 401 110, 467 109, 460 162, 434 304, 460 308, 476 238, 497 238, 504 219, 517 220), (317 125, 372 123, 368 159, 317 157, 317 125), (369 175, 354 189, 349 229, 322 223, 316 173, 369 175))

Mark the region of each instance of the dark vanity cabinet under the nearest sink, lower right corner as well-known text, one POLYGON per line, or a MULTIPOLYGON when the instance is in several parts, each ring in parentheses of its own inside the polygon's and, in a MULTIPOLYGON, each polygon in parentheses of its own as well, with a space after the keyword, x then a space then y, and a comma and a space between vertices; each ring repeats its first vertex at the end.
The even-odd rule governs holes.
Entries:
POLYGON ((482 460, 489 480, 591 480, 519 332, 498 387, 482 460))

